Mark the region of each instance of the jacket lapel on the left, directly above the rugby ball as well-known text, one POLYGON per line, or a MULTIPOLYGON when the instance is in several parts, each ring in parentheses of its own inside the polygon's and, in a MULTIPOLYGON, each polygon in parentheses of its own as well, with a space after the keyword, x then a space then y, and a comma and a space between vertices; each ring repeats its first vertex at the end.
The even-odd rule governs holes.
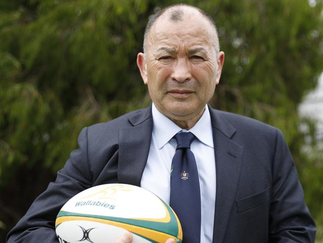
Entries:
POLYGON ((132 126, 120 129, 119 133, 118 181, 140 186, 152 138, 151 106, 128 120, 132 126))

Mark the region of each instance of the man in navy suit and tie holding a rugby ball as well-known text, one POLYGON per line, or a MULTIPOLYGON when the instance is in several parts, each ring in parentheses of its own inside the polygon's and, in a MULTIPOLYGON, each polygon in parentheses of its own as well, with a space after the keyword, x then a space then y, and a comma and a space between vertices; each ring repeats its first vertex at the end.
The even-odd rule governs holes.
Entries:
MULTIPOLYGON (((8 243, 57 243, 54 221, 62 205, 100 184, 142 186, 176 206, 172 197, 183 192, 172 192, 172 159, 177 134, 187 131, 193 134, 188 150, 198 171, 200 215, 181 223, 190 229, 200 222, 193 237, 203 243, 314 242, 315 224, 281 132, 207 105, 223 63, 214 22, 200 9, 174 5, 155 14, 137 57, 153 105, 84 128, 80 148, 9 233, 8 243)), ((183 229, 184 243, 192 242, 190 233, 183 229)), ((131 235, 119 240, 126 242, 131 235)))

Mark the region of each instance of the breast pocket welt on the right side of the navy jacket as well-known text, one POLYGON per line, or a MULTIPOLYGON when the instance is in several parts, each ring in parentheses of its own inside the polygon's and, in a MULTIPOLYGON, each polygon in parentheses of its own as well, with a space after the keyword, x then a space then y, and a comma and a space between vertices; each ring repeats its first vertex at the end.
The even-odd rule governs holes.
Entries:
POLYGON ((238 213, 242 213, 247 210, 256 208, 264 203, 268 203, 269 197, 270 187, 267 187, 265 190, 259 193, 237 200, 236 205, 238 213))

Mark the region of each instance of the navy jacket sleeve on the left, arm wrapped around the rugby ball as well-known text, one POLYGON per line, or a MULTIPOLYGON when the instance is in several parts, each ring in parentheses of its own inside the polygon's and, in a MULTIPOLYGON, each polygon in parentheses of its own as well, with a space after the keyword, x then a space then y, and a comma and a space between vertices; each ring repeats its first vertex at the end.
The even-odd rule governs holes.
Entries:
POLYGON ((90 187, 92 176, 87 159, 87 128, 79 138, 79 149, 71 153, 55 182, 31 205, 26 215, 9 232, 7 243, 58 243, 55 219, 62 206, 74 195, 90 187))

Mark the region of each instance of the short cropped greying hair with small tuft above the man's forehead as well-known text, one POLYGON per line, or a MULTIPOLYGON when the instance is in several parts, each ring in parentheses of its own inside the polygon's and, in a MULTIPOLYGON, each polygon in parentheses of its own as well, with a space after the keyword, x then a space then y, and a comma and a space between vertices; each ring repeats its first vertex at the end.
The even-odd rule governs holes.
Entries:
POLYGON ((218 58, 219 57, 219 52, 220 52, 220 43, 219 43, 219 35, 218 35, 217 26, 215 25, 215 22, 214 22, 213 18, 209 14, 207 14, 205 11, 203 11, 202 9, 200 9, 198 7, 194 7, 192 5, 184 4, 184 3, 173 4, 173 5, 170 5, 168 7, 162 8, 158 12, 156 12, 155 14, 153 14, 153 15, 151 15, 149 17, 149 21, 148 21, 148 23, 146 25, 145 34, 144 34, 144 45, 143 45, 143 49, 144 49, 145 56, 146 56, 146 53, 147 53, 147 38, 148 38, 148 34, 149 34, 149 31, 151 30, 151 28, 153 27, 154 23, 156 22, 156 20, 163 13, 165 13, 166 11, 169 10, 168 19, 170 21, 172 21, 172 22, 181 21, 183 19, 183 15, 184 15, 184 11, 182 9, 182 6, 188 6, 188 7, 191 7, 191 8, 194 8, 194 9, 198 10, 198 12, 203 17, 205 17, 209 21, 209 23, 214 27, 215 34, 216 34, 215 50, 216 50, 216 55, 217 55, 217 58, 218 58))

